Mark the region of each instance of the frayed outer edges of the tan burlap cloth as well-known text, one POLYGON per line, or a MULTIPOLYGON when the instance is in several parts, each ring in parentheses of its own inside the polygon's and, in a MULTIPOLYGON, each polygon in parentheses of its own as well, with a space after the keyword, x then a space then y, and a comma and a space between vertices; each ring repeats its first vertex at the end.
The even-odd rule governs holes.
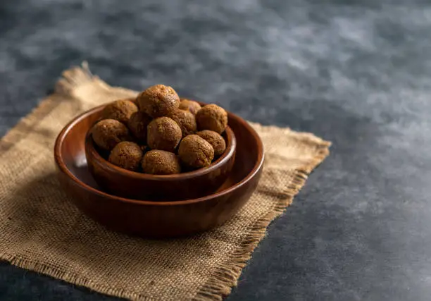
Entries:
MULTIPOLYGON (((17 141, 23 139, 27 135, 26 129, 32 124, 37 123, 42 116, 45 116, 51 109, 54 109, 56 103, 61 101, 61 98, 73 98, 73 89, 79 85, 94 82, 94 84, 103 87, 106 90, 120 89, 125 92, 133 93, 131 90, 123 89, 120 87, 110 87, 105 82, 99 80, 95 75, 92 75, 86 62, 82 63, 82 67, 70 68, 65 70, 62 77, 56 83, 56 94, 51 95, 47 99, 44 99, 39 105, 27 116, 22 118, 20 122, 15 125, 14 128, 8 131, 4 137, 0 140, 0 154, 7 151, 11 145, 17 141)), ((256 123, 253 123, 254 127, 261 127, 256 123)), ((314 137, 316 139, 316 137, 314 137)), ((294 179, 291 185, 285 188, 283 195, 285 199, 279 199, 274 207, 273 211, 270 211, 266 216, 258 219, 254 225, 252 225, 247 231, 249 234, 244 237, 240 243, 238 250, 232 252, 229 258, 213 272, 213 275, 208 278, 208 281, 199 288, 198 292, 194 296, 195 301, 213 301, 223 300, 223 297, 230 294, 232 287, 237 285, 237 279, 241 275, 242 269, 246 266, 246 262, 251 258, 251 253, 257 247, 258 243, 266 235, 266 228, 277 216, 280 216, 294 199, 294 196, 298 194, 299 190, 304 186, 308 178, 309 173, 313 171, 325 158, 330 154, 329 147, 330 142, 317 138, 316 141, 316 155, 310 164, 308 164, 304 170, 296 170, 294 173, 294 179)), ((33 262, 30 259, 23 259, 13 257, 9 254, 0 254, 0 259, 5 260, 14 266, 18 266, 23 269, 35 271, 37 273, 45 274, 74 285, 81 285, 86 288, 95 290, 99 293, 106 295, 114 295, 132 300, 142 301, 156 301, 154 298, 146 297, 136 292, 130 292, 126 290, 112 289, 104 285, 92 283, 91 279, 77 276, 76 274, 70 274, 67 271, 56 269, 46 264, 40 264, 33 262)))

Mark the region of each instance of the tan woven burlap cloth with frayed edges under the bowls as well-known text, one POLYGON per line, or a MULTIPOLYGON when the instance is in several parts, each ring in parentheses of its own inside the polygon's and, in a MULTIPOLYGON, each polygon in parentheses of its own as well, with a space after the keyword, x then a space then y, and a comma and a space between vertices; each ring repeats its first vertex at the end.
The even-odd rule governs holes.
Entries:
POLYGON ((329 154, 330 143, 252 123, 266 162, 256 192, 235 218, 190 238, 128 237, 107 231, 71 204, 56 180, 52 149, 78 113, 136 93, 110 87, 87 68, 66 70, 56 92, 2 138, 0 259, 132 300, 220 300, 237 284, 270 221, 329 154))

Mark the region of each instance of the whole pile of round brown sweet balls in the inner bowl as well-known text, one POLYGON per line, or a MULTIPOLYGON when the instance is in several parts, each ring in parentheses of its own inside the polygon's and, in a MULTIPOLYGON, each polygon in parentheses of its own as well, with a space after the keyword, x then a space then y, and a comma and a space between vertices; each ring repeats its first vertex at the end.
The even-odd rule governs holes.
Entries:
POLYGON ((168 175, 209 166, 226 149, 227 112, 216 104, 180 99, 155 85, 136 99, 106 105, 91 135, 112 164, 130 171, 168 175))

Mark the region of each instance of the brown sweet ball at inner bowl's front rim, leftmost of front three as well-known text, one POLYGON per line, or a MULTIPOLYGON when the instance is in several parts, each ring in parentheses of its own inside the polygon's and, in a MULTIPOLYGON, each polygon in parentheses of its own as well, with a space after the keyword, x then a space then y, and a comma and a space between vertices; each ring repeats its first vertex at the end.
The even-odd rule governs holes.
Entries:
POLYGON ((136 171, 142 160, 142 149, 135 142, 123 141, 115 145, 108 161, 129 171, 136 171))

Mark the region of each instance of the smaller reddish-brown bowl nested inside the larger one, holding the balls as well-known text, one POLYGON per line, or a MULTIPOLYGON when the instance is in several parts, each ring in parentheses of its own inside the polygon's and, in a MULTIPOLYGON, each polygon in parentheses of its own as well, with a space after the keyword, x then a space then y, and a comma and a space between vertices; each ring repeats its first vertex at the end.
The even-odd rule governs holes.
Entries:
MULTIPOLYGON (((102 109, 95 109, 93 115, 99 118, 102 109)), ((196 199, 220 188, 232 170, 237 140, 229 127, 223 136, 226 150, 210 166, 174 175, 151 175, 115 166, 101 156, 91 134, 85 138, 85 154, 94 180, 111 195, 151 201, 196 199)))

